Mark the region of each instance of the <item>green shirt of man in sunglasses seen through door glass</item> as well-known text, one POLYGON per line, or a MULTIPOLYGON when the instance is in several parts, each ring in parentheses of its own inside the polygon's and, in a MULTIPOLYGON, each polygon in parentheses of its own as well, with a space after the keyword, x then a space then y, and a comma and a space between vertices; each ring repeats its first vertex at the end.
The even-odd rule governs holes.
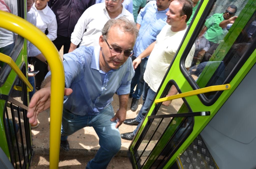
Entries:
POLYGON ((223 14, 214 14, 209 19, 205 21, 205 26, 207 27, 207 31, 204 34, 204 37, 214 43, 219 43, 225 36, 225 32, 223 32, 222 28, 219 26, 219 23, 224 20, 223 14))

